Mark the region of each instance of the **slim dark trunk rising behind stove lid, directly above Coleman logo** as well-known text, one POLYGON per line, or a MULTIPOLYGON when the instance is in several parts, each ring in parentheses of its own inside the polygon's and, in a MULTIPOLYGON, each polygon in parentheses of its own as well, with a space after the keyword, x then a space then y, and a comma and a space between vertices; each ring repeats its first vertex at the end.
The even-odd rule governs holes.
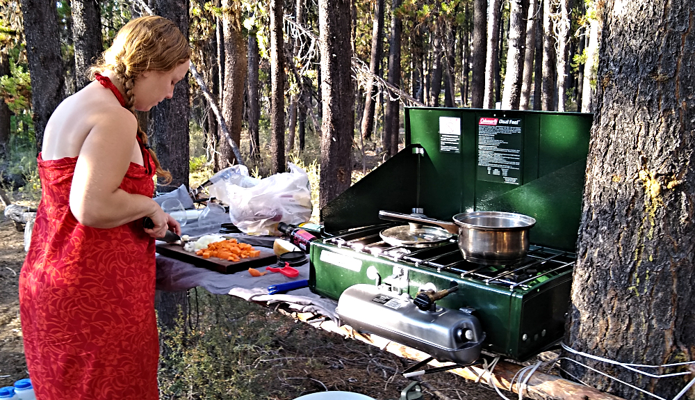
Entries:
POLYGON ((471 106, 474 109, 483 108, 485 93, 485 62, 486 62, 486 23, 487 1, 473 0, 473 65, 471 70, 471 106))

